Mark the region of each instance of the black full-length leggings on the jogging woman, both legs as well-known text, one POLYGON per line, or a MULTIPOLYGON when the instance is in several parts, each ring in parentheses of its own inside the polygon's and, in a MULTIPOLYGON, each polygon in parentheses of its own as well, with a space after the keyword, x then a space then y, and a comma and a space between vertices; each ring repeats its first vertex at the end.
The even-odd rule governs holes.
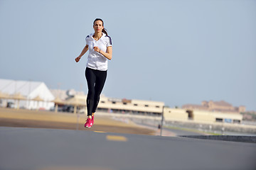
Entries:
POLYGON ((87 115, 95 113, 97 105, 100 101, 100 94, 107 78, 107 71, 100 71, 96 69, 85 69, 85 78, 87 80, 88 94, 87 94, 87 115))

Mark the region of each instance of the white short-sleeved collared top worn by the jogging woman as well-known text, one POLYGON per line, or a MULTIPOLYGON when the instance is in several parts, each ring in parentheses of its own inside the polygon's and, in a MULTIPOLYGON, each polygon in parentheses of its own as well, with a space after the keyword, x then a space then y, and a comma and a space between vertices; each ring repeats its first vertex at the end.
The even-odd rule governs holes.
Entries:
POLYGON ((112 46, 112 40, 110 36, 107 36, 105 33, 102 33, 102 37, 99 40, 92 38, 92 35, 94 35, 94 33, 87 35, 85 38, 86 45, 89 47, 89 55, 86 67, 89 67, 90 69, 106 71, 107 58, 100 54, 100 52, 95 52, 93 47, 99 47, 101 51, 107 52, 107 47, 112 46))

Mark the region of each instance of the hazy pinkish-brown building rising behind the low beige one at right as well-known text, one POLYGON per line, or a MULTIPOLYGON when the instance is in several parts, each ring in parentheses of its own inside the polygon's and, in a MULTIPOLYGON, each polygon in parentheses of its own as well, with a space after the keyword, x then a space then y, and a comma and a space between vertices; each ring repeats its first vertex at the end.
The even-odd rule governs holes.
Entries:
POLYGON ((245 106, 234 107, 226 101, 202 101, 201 105, 186 104, 184 109, 199 111, 218 111, 223 113, 241 113, 245 112, 245 106))

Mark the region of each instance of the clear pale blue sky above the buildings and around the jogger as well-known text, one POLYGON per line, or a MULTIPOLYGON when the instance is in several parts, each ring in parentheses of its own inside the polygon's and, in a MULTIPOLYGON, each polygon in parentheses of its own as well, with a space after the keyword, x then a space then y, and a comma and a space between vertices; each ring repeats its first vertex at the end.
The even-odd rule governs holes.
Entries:
POLYGON ((86 94, 87 53, 75 57, 95 18, 113 42, 105 96, 256 111, 252 0, 0 0, 0 79, 86 94))

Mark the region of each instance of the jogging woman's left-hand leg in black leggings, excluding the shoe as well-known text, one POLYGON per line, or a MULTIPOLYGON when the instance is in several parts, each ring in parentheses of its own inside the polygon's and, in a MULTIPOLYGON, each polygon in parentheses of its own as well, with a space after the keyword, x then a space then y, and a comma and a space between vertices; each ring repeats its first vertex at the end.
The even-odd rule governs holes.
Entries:
POLYGON ((85 77, 87 80, 87 86, 88 86, 88 94, 87 94, 87 115, 92 115, 92 108, 95 105, 95 82, 96 82, 96 74, 95 70, 86 68, 85 69, 85 77))

